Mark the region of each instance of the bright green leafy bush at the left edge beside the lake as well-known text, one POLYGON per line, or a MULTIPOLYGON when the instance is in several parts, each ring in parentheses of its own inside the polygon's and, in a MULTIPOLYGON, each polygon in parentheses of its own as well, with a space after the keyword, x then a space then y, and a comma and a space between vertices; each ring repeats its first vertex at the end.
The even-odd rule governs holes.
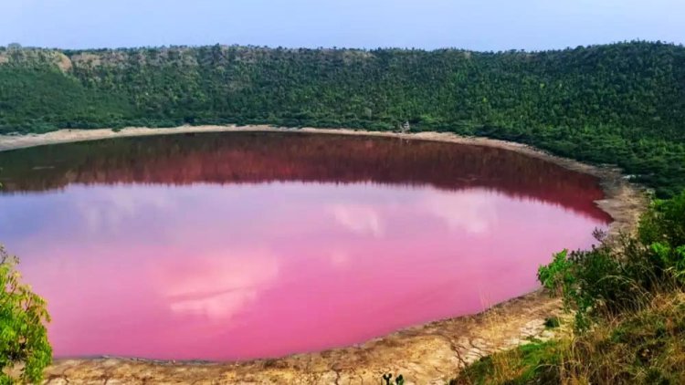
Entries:
POLYGON ((20 282, 16 257, 0 246, 0 384, 39 383, 52 360, 45 323, 46 303, 20 282), (22 364, 18 379, 6 370, 22 364))

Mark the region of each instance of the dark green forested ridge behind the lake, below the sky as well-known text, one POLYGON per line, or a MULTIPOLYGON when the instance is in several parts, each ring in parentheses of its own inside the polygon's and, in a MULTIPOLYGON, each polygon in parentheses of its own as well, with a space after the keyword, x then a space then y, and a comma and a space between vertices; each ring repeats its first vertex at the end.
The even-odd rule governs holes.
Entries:
POLYGON ((269 123, 448 130, 685 188, 685 47, 543 52, 0 47, 0 133, 269 123))

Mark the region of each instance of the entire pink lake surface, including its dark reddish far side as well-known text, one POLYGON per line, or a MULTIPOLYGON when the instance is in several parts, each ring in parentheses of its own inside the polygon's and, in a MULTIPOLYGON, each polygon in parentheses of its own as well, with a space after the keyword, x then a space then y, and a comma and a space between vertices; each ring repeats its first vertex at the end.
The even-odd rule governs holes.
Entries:
POLYGON ((253 359, 537 288, 610 217, 594 177, 421 140, 222 133, 0 152, 0 241, 56 357, 253 359))

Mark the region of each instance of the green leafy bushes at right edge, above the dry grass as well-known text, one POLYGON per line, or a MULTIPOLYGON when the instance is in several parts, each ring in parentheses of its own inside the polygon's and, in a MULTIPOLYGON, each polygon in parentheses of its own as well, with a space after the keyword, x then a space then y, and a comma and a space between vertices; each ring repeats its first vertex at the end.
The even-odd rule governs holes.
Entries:
POLYGON ((685 288, 685 192, 657 201, 640 221, 638 234, 618 245, 554 255, 538 278, 575 310, 575 328, 596 317, 641 307, 655 293, 685 288))

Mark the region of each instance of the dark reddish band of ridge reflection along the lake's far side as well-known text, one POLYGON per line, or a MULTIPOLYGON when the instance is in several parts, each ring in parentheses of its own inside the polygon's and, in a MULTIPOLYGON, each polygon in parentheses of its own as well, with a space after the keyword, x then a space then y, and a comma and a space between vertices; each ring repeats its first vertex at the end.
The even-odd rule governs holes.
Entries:
POLYGON ((307 133, 126 138, 0 152, 4 192, 69 183, 378 182, 483 187, 606 220, 594 177, 501 149, 307 133))

